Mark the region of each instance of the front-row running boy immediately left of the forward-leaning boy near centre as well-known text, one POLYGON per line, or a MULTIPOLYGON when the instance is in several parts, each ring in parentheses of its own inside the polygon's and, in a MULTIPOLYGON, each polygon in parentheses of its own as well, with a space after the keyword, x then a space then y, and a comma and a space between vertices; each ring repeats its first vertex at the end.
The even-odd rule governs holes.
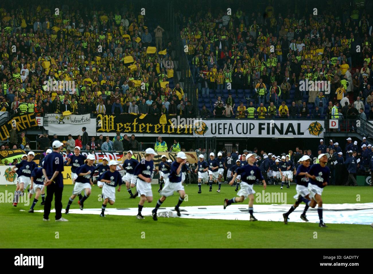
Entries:
POLYGON ((153 201, 153 192, 151 191, 151 179, 153 178, 154 156, 158 155, 153 148, 145 149, 145 158, 142 159, 135 167, 134 175, 137 176, 136 188, 140 194, 140 202, 138 204, 138 214, 136 218, 139 220, 145 219, 142 216, 142 208, 145 201, 151 203, 153 201))

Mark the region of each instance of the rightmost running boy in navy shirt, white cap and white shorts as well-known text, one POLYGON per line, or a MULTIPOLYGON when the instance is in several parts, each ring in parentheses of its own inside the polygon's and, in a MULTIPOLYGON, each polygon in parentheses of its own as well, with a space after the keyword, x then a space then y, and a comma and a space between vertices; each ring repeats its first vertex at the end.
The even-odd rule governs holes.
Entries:
POLYGON ((330 170, 329 167, 326 166, 327 159, 330 157, 329 154, 320 154, 317 159, 319 160, 319 164, 313 164, 311 166, 310 171, 308 173, 311 176, 315 176, 315 179, 313 177, 310 177, 310 182, 308 183, 308 190, 310 192, 310 198, 311 201, 307 198, 302 197, 302 201, 305 202, 308 206, 311 208, 317 207, 317 213, 319 214, 319 227, 327 227, 325 223, 323 222, 323 200, 321 198, 321 194, 323 192, 323 188, 327 186, 329 182, 329 175, 330 170))

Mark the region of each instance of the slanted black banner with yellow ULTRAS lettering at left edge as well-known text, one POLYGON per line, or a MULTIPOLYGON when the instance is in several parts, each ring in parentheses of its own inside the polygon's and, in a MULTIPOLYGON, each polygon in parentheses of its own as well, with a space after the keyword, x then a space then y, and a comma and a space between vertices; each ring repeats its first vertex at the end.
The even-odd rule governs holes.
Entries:
POLYGON ((31 127, 38 126, 35 113, 27 113, 19 116, 12 117, 4 125, 0 127, 1 141, 7 140, 10 137, 10 130, 13 126, 17 127, 17 132, 30 129, 31 127))

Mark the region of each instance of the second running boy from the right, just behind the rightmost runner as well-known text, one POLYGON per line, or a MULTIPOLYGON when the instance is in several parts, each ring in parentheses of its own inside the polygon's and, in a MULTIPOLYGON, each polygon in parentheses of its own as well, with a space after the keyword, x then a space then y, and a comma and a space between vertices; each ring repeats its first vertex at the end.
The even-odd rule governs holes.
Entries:
MULTIPOLYGON (((310 199, 310 191, 308 190, 308 182, 310 181, 310 178, 315 179, 315 176, 311 176, 308 174, 308 171, 310 171, 310 162, 311 158, 308 155, 303 156, 300 161, 302 164, 298 167, 297 173, 295 175, 295 181, 297 182, 296 190, 297 190, 297 195, 294 196, 297 201, 295 202, 294 205, 289 209, 288 212, 282 214, 283 221, 285 224, 288 223, 288 217, 291 212, 295 210, 295 208, 298 207, 298 205, 302 202, 302 197, 307 198, 308 200, 310 199)), ((301 214, 301 219, 308 222, 305 212, 308 209, 308 205, 306 204, 303 214, 301 214)))

